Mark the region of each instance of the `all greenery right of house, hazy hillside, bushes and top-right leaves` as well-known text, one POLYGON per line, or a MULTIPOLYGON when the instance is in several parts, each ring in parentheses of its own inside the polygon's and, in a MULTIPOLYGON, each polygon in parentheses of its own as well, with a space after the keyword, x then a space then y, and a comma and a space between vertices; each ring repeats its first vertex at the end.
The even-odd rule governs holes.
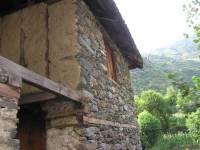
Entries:
POLYGON ((200 149, 200 0, 183 8, 195 36, 146 55, 131 73, 145 150, 200 149))

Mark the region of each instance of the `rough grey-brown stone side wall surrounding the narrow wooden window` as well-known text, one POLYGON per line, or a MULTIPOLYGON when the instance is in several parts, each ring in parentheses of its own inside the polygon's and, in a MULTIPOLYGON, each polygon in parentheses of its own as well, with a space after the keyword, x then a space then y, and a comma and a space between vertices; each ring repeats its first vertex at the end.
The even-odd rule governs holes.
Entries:
MULTIPOLYGON (((93 95, 88 103, 87 116, 136 125, 126 59, 83 1, 77 2, 76 15, 80 44, 77 57, 81 65, 80 87, 93 95), (104 37, 114 50, 117 81, 109 79, 107 75, 104 37)), ((94 149, 140 149, 137 129, 134 128, 91 124, 84 131, 87 142, 93 143, 94 149)))

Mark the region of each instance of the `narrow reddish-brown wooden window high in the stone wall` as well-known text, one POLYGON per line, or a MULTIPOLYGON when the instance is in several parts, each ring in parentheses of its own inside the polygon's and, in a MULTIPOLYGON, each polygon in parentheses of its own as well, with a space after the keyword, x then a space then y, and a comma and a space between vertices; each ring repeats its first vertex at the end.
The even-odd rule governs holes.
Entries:
POLYGON ((106 50, 106 61, 107 61, 107 68, 108 68, 108 77, 114 81, 117 80, 115 64, 113 59, 113 50, 108 44, 107 41, 104 40, 105 43, 105 50, 106 50))

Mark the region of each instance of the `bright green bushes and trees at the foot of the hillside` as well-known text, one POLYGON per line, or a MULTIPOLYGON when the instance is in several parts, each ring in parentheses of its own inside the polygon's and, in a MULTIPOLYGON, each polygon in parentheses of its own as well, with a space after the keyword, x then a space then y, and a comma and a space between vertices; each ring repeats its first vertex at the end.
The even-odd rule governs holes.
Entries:
POLYGON ((199 80, 191 87, 170 86, 165 94, 147 90, 135 97, 144 149, 200 149, 200 108, 193 103, 194 90, 200 92, 197 84, 199 80))

